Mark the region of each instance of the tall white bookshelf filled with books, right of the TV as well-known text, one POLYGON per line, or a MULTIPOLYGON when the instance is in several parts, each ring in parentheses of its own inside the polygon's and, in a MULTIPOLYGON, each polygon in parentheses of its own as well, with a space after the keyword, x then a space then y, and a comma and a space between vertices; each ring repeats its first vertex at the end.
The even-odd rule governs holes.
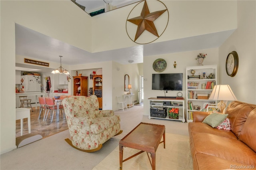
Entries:
POLYGON ((200 107, 200 109, 204 109, 204 103, 217 102, 214 100, 206 99, 210 96, 210 93, 212 92, 214 85, 217 85, 217 65, 199 65, 186 67, 187 122, 193 121, 192 112, 199 111, 195 110, 194 106, 198 106, 200 107), (195 70, 194 75, 199 75, 200 79, 189 79, 189 77, 192 76, 191 70, 195 70), (210 79, 208 79, 209 77, 210 79), (207 83, 209 85, 207 85, 207 83), (202 86, 202 84, 205 85, 202 86), (192 87, 193 85, 197 88, 192 87))

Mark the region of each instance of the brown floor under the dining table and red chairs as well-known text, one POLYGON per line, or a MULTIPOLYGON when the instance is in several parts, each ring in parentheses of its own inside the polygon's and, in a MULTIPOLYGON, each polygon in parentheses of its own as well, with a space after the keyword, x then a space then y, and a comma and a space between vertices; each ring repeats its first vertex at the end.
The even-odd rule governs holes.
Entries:
MULTIPOLYGON (((44 119, 44 110, 41 113, 41 119, 38 119, 39 116, 39 107, 37 109, 33 107, 33 112, 30 110, 30 125, 31 125, 31 133, 40 134, 43 138, 51 136, 53 134, 62 132, 68 129, 66 119, 63 119, 63 115, 60 112, 60 121, 56 122, 56 114, 54 112, 53 121, 50 121, 50 112, 47 117, 47 121, 43 121, 44 119)), ((47 114, 47 112, 46 112, 47 114)), ((28 119, 24 119, 23 121, 23 135, 28 134, 28 119)), ((20 120, 16 120, 16 137, 20 136, 20 120)))

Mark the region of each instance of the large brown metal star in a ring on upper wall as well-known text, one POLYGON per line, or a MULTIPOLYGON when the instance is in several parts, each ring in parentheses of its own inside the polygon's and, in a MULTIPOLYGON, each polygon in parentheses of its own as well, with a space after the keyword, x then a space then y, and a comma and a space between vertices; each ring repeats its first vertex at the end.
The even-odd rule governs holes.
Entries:
MULTIPOLYGON (((160 2, 160 1, 159 1, 160 2)), ((161 2, 162 3, 162 2, 161 2)), ((165 6, 165 5, 164 5, 165 6)), ((166 7, 166 6, 165 6, 166 7)), ((135 7, 134 7, 135 8, 135 7)), ((148 9, 148 4, 146 2, 146 0, 144 1, 144 5, 141 11, 140 16, 137 16, 135 18, 131 18, 131 19, 127 19, 128 22, 131 22, 133 24, 136 24, 137 27, 137 31, 135 34, 135 38, 134 38, 134 42, 136 42, 136 40, 142 35, 142 33, 146 30, 148 32, 150 32, 151 34, 153 34, 154 36, 156 36, 156 39, 159 38, 159 34, 158 31, 156 29, 156 26, 154 24, 154 21, 160 17, 164 12, 168 12, 167 8, 164 10, 159 10, 156 12, 152 12, 150 13, 149 9, 148 9)), ((131 11, 132 12, 132 11, 131 11)), ((169 15, 168 15, 169 16, 169 15)), ((167 20, 168 23, 168 20, 167 20)), ((167 27, 167 24, 166 24, 167 27)), ((126 30, 127 30, 127 25, 126 25, 126 30)), ((164 29, 165 30, 165 29, 164 29)), ((163 33, 163 32, 162 32, 163 33)), ((128 34, 128 32, 127 32, 128 34)), ((161 34, 162 35, 162 34, 161 34)), ((128 35, 129 36, 129 35, 128 35)), ((130 37, 130 36, 129 36, 130 37)), ((156 40, 155 39, 155 40, 156 40)), ((131 38, 132 40, 132 38, 131 38)), ((154 40, 153 40, 154 41, 154 40)), ((152 41, 151 41, 152 42, 152 41)), ((138 42, 136 42, 138 43, 138 42)), ((147 42, 150 43, 150 42, 147 42)), ((140 44, 144 44, 144 43, 140 43, 140 44)))

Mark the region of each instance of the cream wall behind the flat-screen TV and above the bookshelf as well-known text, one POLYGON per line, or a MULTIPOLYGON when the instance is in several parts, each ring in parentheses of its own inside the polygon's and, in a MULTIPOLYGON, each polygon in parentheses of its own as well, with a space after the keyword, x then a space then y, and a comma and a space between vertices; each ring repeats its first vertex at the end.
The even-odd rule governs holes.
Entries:
POLYGON ((154 55, 143 58, 143 72, 144 72, 144 115, 149 115, 149 103, 148 98, 157 96, 177 96, 178 91, 164 91, 152 90, 152 74, 158 73, 154 71, 152 65, 158 58, 162 58, 166 61, 167 67, 160 73, 183 73, 183 86, 182 94, 186 98, 186 66, 198 65, 198 61, 195 59, 199 53, 207 53, 207 57, 204 59, 203 65, 218 64, 218 48, 202 49, 196 51, 186 51, 180 53, 171 53, 163 55, 154 55), (173 64, 176 61, 176 69, 173 64))

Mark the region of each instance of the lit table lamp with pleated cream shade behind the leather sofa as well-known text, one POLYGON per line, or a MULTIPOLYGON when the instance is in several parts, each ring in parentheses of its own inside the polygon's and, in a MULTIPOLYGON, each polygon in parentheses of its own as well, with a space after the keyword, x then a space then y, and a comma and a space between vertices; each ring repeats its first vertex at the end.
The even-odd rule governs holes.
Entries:
POLYGON ((227 101, 234 101, 237 99, 229 85, 215 85, 209 100, 219 100, 220 102, 217 106, 220 109, 220 113, 222 113, 226 108, 227 101), (226 101, 226 103, 223 101, 226 101))

